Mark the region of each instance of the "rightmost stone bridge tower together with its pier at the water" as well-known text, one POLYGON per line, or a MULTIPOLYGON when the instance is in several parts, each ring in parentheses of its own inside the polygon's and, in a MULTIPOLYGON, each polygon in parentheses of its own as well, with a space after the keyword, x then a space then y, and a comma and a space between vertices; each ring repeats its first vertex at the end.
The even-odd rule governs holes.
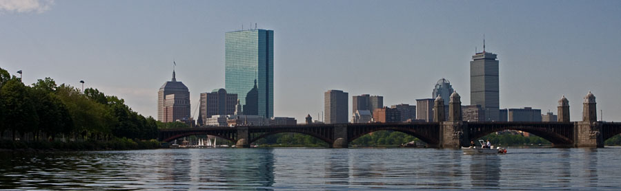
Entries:
POLYGON ((595 95, 589 91, 589 93, 584 96, 584 103, 582 104, 584 105, 582 110, 582 122, 575 122, 574 124, 574 146, 604 147, 604 137, 601 133, 602 123, 598 122, 595 95))

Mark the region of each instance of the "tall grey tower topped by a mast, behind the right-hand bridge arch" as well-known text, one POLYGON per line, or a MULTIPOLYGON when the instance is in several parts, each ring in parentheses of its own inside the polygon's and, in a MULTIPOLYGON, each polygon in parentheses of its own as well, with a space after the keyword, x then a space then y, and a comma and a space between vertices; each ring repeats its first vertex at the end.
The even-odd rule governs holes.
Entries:
POLYGON ((496 56, 491 52, 485 52, 485 40, 483 40, 483 52, 472 56, 470 61, 470 104, 483 107, 486 122, 500 120, 496 56))

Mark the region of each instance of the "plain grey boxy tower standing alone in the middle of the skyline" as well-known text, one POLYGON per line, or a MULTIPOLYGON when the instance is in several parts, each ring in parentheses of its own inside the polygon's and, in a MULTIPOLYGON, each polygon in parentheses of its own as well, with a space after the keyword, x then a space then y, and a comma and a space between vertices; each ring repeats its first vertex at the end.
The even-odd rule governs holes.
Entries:
POLYGON ((348 93, 340 90, 328 90, 324 93, 324 117, 326 124, 347 123, 348 93))

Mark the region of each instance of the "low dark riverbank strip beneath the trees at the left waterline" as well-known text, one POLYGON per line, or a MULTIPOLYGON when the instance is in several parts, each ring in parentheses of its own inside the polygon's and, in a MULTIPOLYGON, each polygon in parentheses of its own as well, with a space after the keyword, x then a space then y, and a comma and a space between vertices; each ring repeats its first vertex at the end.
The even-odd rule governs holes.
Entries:
POLYGON ((116 138, 110 141, 86 141, 86 142, 21 142, 0 141, 0 150, 24 151, 24 150, 141 150, 161 148, 156 140, 134 141, 126 138, 116 138))

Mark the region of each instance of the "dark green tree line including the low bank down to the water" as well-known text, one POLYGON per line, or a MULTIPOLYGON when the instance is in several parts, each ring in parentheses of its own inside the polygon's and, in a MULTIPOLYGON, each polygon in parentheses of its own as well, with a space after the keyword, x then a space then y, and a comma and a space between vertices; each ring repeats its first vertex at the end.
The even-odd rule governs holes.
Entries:
POLYGON ((0 68, 0 148, 107 150, 157 148, 158 128, 187 127, 138 114, 115 95, 57 85, 24 85, 0 68), (156 146, 157 143, 157 146, 156 146))

